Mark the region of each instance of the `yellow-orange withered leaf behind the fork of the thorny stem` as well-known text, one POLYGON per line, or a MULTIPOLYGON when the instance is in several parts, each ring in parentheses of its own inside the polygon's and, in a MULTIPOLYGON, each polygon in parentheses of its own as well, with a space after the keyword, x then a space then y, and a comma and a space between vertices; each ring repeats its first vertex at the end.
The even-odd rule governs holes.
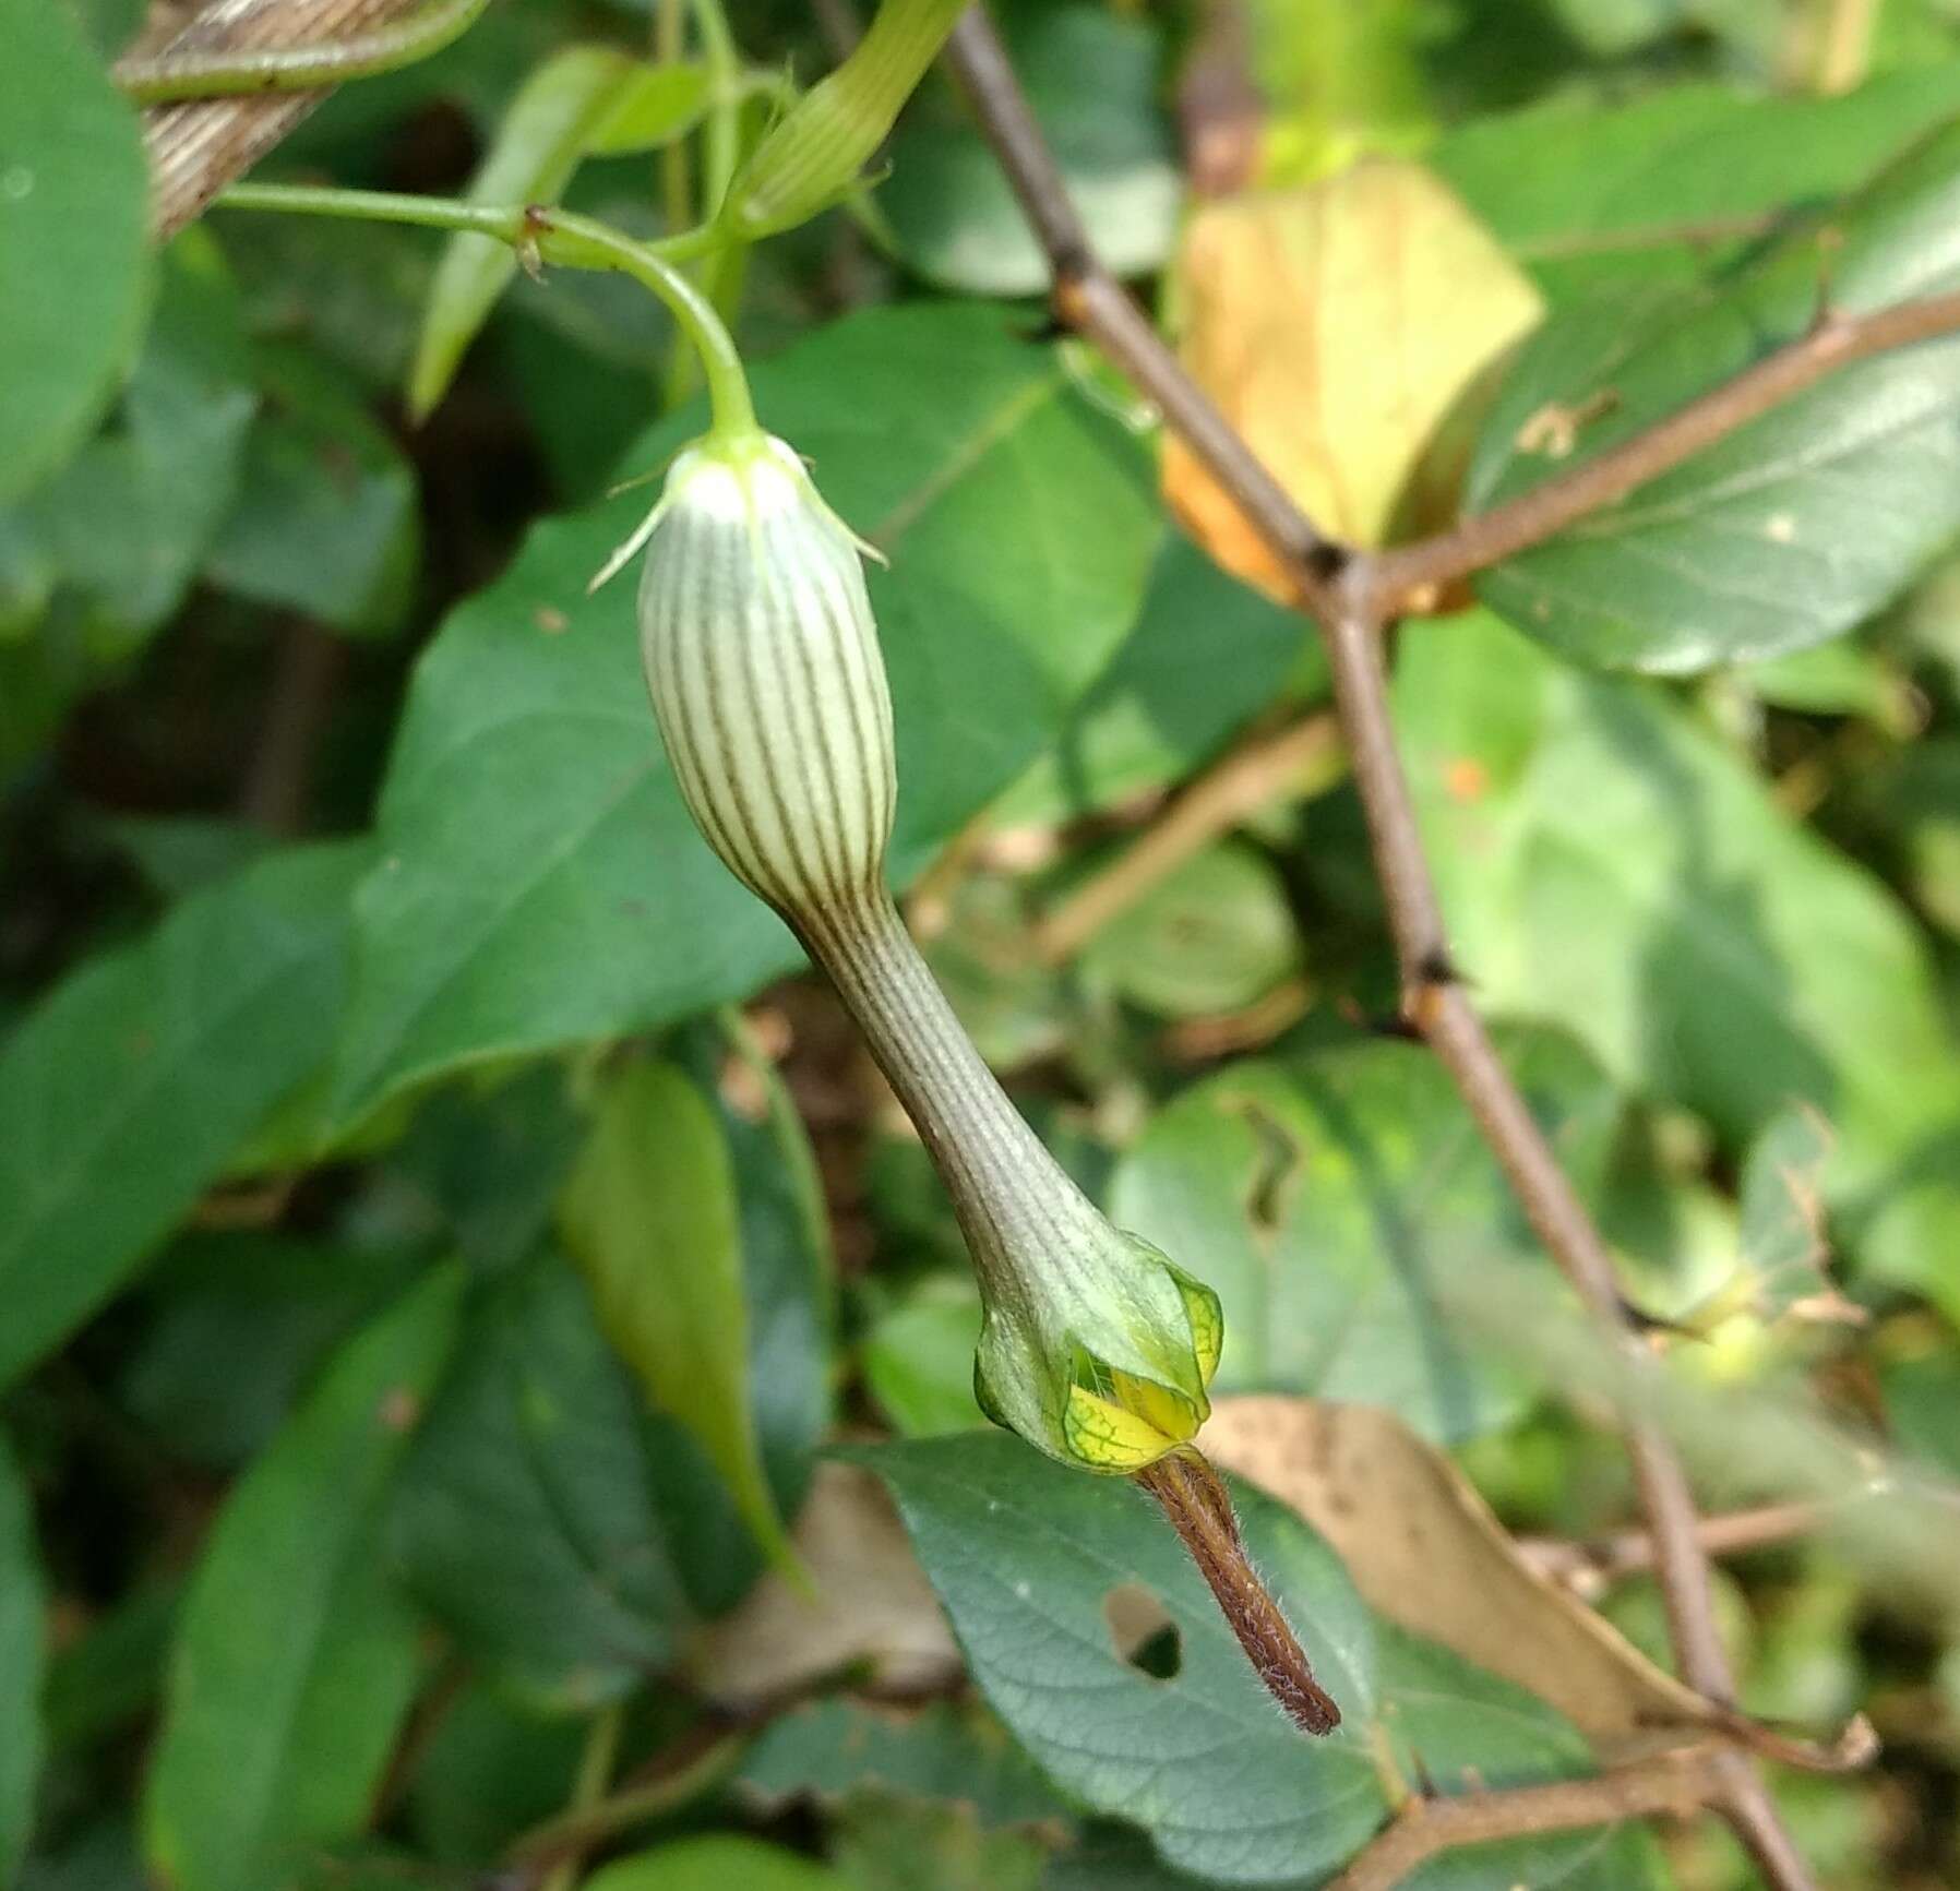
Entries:
MULTIPOLYGON (((1543 302, 1421 165, 1364 159, 1200 210, 1176 261, 1184 364, 1325 531, 1382 545, 1452 506, 1488 370, 1543 302)), ((1176 439, 1164 498, 1282 602, 1286 574, 1176 439)))

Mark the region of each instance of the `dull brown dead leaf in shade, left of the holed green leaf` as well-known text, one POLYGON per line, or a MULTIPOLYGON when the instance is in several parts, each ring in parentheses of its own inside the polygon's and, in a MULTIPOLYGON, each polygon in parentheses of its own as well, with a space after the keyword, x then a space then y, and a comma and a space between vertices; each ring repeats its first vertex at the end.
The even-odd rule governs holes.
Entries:
POLYGON ((702 1693, 741 1711, 843 1670, 892 1693, 960 1672, 939 1597, 870 1472, 821 1460, 790 1536, 809 1587, 770 1572, 706 1626, 684 1654, 702 1693))

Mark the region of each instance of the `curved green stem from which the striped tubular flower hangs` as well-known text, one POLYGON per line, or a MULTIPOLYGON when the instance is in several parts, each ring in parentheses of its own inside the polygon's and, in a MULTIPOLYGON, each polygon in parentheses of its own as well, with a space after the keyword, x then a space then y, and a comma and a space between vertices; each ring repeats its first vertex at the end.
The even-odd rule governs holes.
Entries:
POLYGON ((713 433, 753 433, 755 402, 741 355, 713 304, 674 265, 711 255, 719 235, 690 229, 659 243, 635 243, 610 223, 547 204, 459 204, 455 198, 404 196, 390 190, 339 190, 310 184, 233 184, 220 200, 225 210, 286 210, 316 218, 368 218, 461 229, 508 243, 519 255, 566 268, 612 268, 657 294, 700 355, 713 406, 713 433))

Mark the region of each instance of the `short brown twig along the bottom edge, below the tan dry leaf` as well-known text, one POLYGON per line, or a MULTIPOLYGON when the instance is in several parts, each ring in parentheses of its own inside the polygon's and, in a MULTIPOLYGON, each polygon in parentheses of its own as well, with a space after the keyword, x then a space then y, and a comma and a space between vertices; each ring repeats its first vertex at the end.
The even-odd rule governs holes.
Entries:
POLYGON ((1688 1748, 1592 1779, 1411 1799, 1327 1891, 1390 1891, 1439 1852, 1494 1838, 1580 1832, 1654 1815, 1691 1818, 1721 1791, 1727 1758, 1715 1748, 1688 1748))

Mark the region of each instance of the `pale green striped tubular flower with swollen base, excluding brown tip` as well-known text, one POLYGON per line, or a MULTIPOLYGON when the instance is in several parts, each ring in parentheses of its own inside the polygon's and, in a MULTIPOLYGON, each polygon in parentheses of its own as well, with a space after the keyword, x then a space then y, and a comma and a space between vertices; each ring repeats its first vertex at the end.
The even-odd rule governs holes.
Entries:
POLYGON ((1217 1295, 1113 1229, 1021 1121, 884 884, 892 702, 864 547, 778 439, 674 461, 647 545, 641 655, 696 825, 823 966, 919 1129, 986 1309, 986 1413, 1066 1464, 1137 1472, 1209 1413, 1217 1295))

